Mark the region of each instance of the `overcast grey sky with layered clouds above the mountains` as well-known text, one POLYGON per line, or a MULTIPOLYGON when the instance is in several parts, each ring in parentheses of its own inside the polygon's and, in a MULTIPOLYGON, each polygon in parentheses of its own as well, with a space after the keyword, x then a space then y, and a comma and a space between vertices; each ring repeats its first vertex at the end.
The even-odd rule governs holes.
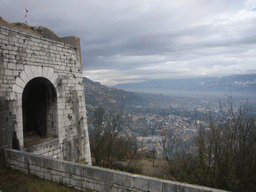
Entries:
POLYGON ((105 85, 256 73, 256 0, 1 0, 8 22, 81 39, 105 85))

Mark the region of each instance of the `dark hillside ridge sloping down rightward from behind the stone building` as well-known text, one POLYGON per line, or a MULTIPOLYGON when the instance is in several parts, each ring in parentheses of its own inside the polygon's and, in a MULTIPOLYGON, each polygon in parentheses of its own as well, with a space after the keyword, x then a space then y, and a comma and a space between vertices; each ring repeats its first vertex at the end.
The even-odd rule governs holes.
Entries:
POLYGON ((90 106, 104 106, 106 108, 123 108, 131 106, 156 107, 167 106, 175 102, 174 97, 161 94, 143 94, 124 91, 101 85, 99 82, 83 78, 85 88, 85 102, 90 106))

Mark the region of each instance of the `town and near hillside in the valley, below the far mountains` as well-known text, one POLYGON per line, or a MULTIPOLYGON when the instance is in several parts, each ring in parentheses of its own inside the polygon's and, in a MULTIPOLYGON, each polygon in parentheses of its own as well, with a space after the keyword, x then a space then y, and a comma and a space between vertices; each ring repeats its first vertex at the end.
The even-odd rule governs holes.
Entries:
MULTIPOLYGON (((246 83, 255 85, 255 82, 247 79, 245 83, 236 81, 233 84, 245 86, 246 83)), ((232 95, 232 91, 218 90, 214 96, 206 96, 201 91, 201 96, 195 97, 192 94, 177 96, 180 90, 176 90, 176 95, 167 96, 109 88, 87 78, 84 78, 84 86, 89 129, 93 126, 95 109, 102 106, 108 113, 121 114, 119 126, 122 126, 122 133, 136 138, 141 144, 140 150, 155 149, 158 153, 163 136, 167 134, 181 142, 191 143, 200 128, 208 129, 210 119, 217 119, 227 112, 229 101, 234 102, 234 109, 249 102, 252 112, 256 110, 255 101, 247 100, 250 94, 241 96, 235 92, 232 95)), ((193 148, 190 145, 189 150, 193 151, 193 148)))

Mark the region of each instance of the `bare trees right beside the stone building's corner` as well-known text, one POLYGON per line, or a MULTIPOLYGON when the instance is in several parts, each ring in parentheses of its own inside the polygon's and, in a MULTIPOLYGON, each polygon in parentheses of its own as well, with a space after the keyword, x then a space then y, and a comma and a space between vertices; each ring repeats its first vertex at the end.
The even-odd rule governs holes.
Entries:
POLYGON ((124 134, 123 119, 121 110, 96 108, 89 129, 95 165, 112 168, 116 161, 125 158, 134 145, 131 138, 124 134))

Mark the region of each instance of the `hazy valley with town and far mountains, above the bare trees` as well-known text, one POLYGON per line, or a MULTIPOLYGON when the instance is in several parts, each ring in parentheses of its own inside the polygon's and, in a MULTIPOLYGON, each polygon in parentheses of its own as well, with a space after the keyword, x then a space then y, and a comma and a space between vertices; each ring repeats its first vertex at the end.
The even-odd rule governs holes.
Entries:
POLYGON ((163 131, 174 130, 177 137, 190 139, 196 134, 198 127, 207 127, 210 114, 212 117, 218 116, 220 99, 225 109, 230 94, 237 105, 249 98, 255 108, 255 74, 193 80, 156 80, 116 86, 137 92, 106 87, 87 78, 84 78, 84 86, 89 127, 97 106, 112 111, 122 110, 128 121, 125 124, 126 133, 136 137, 159 136, 163 131))

